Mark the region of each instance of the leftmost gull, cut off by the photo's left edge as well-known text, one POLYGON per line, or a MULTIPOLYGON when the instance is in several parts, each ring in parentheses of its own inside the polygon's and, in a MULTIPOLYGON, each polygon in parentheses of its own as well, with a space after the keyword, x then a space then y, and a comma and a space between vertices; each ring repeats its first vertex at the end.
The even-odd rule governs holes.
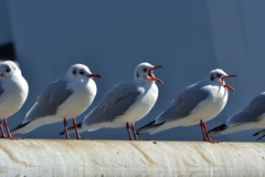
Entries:
POLYGON ((28 97, 28 82, 22 76, 18 65, 12 61, 2 62, 0 64, 0 119, 3 119, 8 135, 4 135, 0 122, 1 138, 20 138, 11 136, 7 118, 21 108, 28 97))

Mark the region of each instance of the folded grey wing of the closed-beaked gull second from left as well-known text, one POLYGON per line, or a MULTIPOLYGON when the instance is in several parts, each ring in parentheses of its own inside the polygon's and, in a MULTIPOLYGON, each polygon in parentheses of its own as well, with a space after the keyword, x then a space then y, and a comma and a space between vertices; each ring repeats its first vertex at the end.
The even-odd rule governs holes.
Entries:
POLYGON ((73 94, 73 91, 67 90, 66 85, 67 82, 64 80, 51 83, 26 114, 25 122, 55 115, 59 106, 73 94))

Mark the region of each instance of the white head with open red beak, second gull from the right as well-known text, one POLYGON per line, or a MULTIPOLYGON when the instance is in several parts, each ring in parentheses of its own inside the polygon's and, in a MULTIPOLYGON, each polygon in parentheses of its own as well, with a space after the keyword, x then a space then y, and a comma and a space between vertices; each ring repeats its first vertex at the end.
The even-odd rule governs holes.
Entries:
POLYGON ((224 79, 233 77, 233 76, 236 76, 236 75, 227 75, 223 70, 215 69, 208 74, 205 80, 212 83, 213 85, 223 85, 224 87, 227 87, 231 91, 234 91, 232 86, 224 83, 224 79))

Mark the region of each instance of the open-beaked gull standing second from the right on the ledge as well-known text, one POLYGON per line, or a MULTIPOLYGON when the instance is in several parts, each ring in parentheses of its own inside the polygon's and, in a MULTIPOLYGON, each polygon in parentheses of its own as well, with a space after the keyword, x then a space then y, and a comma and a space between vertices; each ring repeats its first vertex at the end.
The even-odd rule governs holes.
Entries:
POLYGON ((215 117, 225 106, 229 91, 234 88, 224 83, 227 75, 223 70, 212 70, 204 80, 188 86, 170 106, 151 123, 137 129, 137 134, 156 134, 177 126, 191 126, 200 123, 203 140, 212 140, 206 132, 205 122, 215 117))

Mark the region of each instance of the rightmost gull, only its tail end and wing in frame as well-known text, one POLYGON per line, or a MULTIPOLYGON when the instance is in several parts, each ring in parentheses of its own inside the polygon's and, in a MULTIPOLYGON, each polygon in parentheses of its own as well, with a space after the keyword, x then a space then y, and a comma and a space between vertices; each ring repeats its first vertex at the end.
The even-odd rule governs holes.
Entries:
MULTIPOLYGON (((240 131, 265 127, 265 92, 252 100, 242 111, 232 115, 225 123, 209 131, 210 136, 232 134, 240 131)), ((258 132, 254 135, 262 134, 258 132)))

